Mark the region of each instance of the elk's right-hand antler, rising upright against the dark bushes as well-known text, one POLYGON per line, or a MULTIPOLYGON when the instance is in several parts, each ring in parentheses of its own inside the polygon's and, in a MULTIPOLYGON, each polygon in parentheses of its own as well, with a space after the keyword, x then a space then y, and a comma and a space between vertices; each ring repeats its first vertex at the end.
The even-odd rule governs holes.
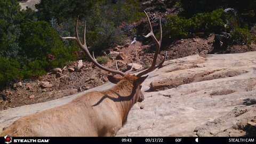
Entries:
MULTIPOLYGON (((144 11, 144 12, 145 12, 145 11, 144 11)), ((145 12, 145 13, 146 13, 146 12, 145 12)), ((158 65, 156 65, 157 55, 158 55, 158 53, 159 53, 159 50, 160 50, 160 47, 161 47, 161 42, 162 42, 162 25, 161 25, 161 18, 159 18, 160 39, 159 39, 159 41, 158 41, 158 40, 156 39, 156 37, 155 37, 155 34, 153 33, 153 29, 152 29, 152 26, 151 26, 151 22, 150 22, 150 20, 149 20, 149 18, 148 18, 148 14, 146 13, 146 15, 147 15, 148 23, 149 23, 149 26, 150 26, 150 32, 149 32, 146 36, 144 36, 144 37, 149 37, 149 36, 151 36, 151 37, 154 39, 154 41, 155 41, 155 43, 156 43, 157 46, 156 46, 156 52, 155 52, 155 55, 154 55, 154 59, 153 59, 152 65, 151 65, 148 69, 146 69, 146 70, 142 71, 141 73, 139 73, 139 74, 137 75, 137 77, 141 77, 141 76, 143 76, 143 75, 145 75, 145 74, 147 74, 147 73, 150 73, 150 72, 153 71, 154 69, 156 69, 156 68, 158 68, 158 67, 161 67, 162 64, 164 63, 166 57, 167 57, 167 52, 166 52, 164 59, 163 59, 158 65)))

